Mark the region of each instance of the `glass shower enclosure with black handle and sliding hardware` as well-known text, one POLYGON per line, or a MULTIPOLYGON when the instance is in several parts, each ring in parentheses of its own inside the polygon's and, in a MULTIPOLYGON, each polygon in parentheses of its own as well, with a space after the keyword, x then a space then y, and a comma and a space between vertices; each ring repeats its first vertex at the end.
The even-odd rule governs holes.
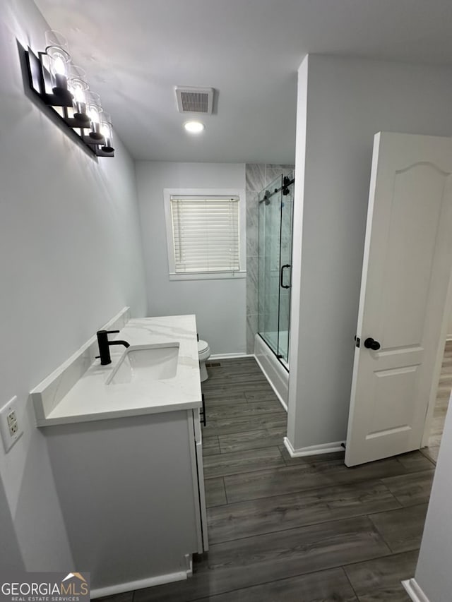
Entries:
POLYGON ((294 174, 259 194, 258 335, 289 369, 294 174))

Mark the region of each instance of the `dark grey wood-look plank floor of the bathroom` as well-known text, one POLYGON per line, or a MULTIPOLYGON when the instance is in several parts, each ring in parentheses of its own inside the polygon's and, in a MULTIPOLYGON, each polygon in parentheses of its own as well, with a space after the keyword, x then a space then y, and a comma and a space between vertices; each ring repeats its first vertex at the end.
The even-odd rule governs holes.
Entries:
MULTIPOLYGON (((420 452, 348 469, 291 459, 286 414, 254 359, 203 383, 210 550, 194 575, 121 602, 398 602, 415 574, 434 474, 420 452)), ((157 544, 156 544, 157 545, 157 544)))

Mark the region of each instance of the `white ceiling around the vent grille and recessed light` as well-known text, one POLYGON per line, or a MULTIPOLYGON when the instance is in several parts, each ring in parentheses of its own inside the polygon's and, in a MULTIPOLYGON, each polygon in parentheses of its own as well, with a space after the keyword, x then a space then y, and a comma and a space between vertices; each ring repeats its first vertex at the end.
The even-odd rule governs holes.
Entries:
POLYGON ((35 0, 135 159, 292 163, 308 52, 452 66, 450 0, 35 0), (176 85, 217 92, 189 135, 176 85))

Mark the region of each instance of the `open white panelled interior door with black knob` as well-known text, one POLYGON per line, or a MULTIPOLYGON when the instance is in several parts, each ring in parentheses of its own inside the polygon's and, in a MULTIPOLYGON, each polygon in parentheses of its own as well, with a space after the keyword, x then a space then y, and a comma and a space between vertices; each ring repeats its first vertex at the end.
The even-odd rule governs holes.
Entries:
POLYGON ((448 318, 451 174, 451 138, 376 134, 347 466, 421 446, 448 318))

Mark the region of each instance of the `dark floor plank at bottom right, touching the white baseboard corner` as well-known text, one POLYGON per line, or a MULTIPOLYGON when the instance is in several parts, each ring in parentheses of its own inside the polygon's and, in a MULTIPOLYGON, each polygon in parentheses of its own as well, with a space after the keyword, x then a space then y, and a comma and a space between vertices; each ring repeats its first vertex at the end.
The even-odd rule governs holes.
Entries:
POLYGON ((417 556, 415 550, 345 567, 359 602, 410 601, 400 582, 414 576, 417 556))

